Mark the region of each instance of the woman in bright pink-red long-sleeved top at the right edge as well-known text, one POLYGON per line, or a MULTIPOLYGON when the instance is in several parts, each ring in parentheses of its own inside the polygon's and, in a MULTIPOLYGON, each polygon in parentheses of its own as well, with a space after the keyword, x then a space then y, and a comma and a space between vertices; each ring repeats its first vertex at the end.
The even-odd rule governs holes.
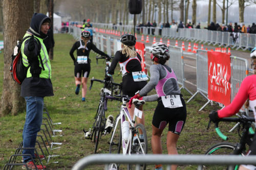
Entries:
MULTIPOLYGON (((218 122, 219 118, 229 117, 238 113, 245 102, 245 106, 247 108, 250 106, 254 118, 256 118, 256 47, 252 49, 250 57, 254 75, 247 76, 243 80, 236 97, 230 105, 221 110, 212 111, 209 114, 209 118, 212 122, 218 122)), ((256 133, 253 136, 247 155, 256 155, 256 133)), ((240 170, 254 170, 255 168, 256 166, 253 165, 240 165, 239 167, 240 170)))

